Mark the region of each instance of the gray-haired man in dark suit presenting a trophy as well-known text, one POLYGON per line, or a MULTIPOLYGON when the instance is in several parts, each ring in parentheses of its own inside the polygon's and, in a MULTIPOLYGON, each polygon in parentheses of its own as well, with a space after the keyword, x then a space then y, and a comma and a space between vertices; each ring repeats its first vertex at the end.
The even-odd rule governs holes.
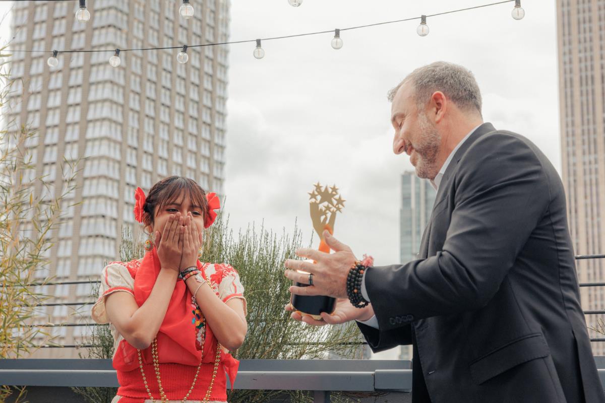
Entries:
POLYGON ((316 264, 287 260, 286 277, 313 284, 293 294, 341 299, 321 321, 292 317, 358 320, 375 352, 413 344, 416 403, 605 402, 548 158, 483 123, 479 86, 462 66, 416 69, 389 100, 394 152, 437 189, 418 259, 360 271, 370 305, 356 308, 346 285, 355 255, 325 231, 335 253, 299 250, 316 264))

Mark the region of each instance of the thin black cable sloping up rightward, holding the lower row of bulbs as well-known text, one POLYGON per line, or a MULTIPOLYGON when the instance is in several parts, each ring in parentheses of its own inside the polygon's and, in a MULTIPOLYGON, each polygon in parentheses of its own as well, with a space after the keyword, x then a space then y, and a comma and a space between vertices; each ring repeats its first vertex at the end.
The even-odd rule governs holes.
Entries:
MULTIPOLYGON (((0 1, 7 1, 7 0, 0 0, 0 1)), ((41 1, 41 0, 28 0, 28 1, 41 1)), ((459 13, 460 11, 474 10, 476 8, 490 7, 492 5, 499 5, 499 4, 514 2, 514 1, 515 0, 503 0, 503 1, 498 1, 498 2, 489 3, 489 4, 476 5, 474 7, 459 8, 458 10, 450 10, 450 11, 443 11, 442 13, 430 14, 430 15, 427 15, 427 17, 436 17, 436 16, 446 15, 446 14, 451 14, 451 13, 459 13)), ((420 19, 420 17, 411 17, 411 18, 397 19, 397 20, 394 20, 394 21, 377 22, 376 24, 358 25, 357 27, 341 28, 341 31, 357 30, 359 28, 367 28, 367 27, 376 27, 376 25, 394 24, 396 22, 413 21, 414 19, 420 19)), ((287 38, 293 38, 293 37, 299 37, 299 36, 327 34, 327 33, 333 33, 333 32, 334 32, 334 30, 317 31, 317 32, 310 32, 310 33, 305 33, 305 34, 293 34, 293 35, 284 35, 284 36, 273 36, 273 37, 261 38, 261 40, 287 39, 287 38)), ((256 39, 234 40, 234 41, 231 41, 231 42, 215 42, 215 43, 212 43, 212 44, 203 44, 203 45, 188 45, 187 47, 188 48, 200 48, 200 47, 206 47, 206 46, 246 44, 248 42, 256 42, 256 39)), ((173 47, 161 47, 161 48, 132 48, 132 49, 120 49, 120 52, 148 51, 148 50, 166 50, 166 49, 182 49, 182 48, 183 48, 183 45, 173 46, 173 47)), ((115 52, 115 51, 116 51, 115 49, 107 49, 107 50, 59 50, 59 53, 94 53, 94 52, 115 52)), ((15 52, 53 53, 53 51, 51 51, 51 50, 18 50, 18 51, 15 51, 15 52)))

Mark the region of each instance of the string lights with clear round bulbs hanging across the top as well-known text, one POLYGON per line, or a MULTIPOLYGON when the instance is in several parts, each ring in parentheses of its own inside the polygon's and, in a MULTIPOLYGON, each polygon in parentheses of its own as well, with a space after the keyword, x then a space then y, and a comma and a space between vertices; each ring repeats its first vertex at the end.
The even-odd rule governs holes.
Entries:
MULTIPOLYGON (((2 0, 0 0, 0 1, 2 1, 2 0)), ((33 1, 36 1, 36 0, 33 0, 33 1)), ((178 13, 181 16, 181 18, 183 18, 183 19, 191 19, 194 16, 194 12, 195 12, 194 7, 191 5, 190 0, 182 0, 182 1, 183 1, 183 4, 181 4, 180 8, 178 9, 178 13)), ((292 5, 292 7, 299 7, 302 4, 302 1, 303 0, 288 0, 289 4, 292 5)), ((396 22, 413 21, 416 19, 420 19, 420 25, 418 25, 418 27, 416 28, 416 33, 419 36, 427 36, 430 31, 428 24, 427 24, 427 18, 432 18, 432 17, 436 17, 436 16, 441 16, 441 15, 447 15, 447 14, 452 14, 452 13, 459 13, 462 11, 475 10, 476 8, 490 7, 490 6, 494 6, 494 5, 513 2, 513 1, 515 2, 515 5, 511 11, 512 18, 514 18, 515 20, 523 19, 523 17, 525 16, 525 10, 523 10, 523 8, 521 7, 521 0, 503 0, 503 1, 498 1, 498 2, 492 2, 489 4, 476 5, 474 7, 459 8, 457 10, 443 11, 441 13, 434 13, 434 14, 430 14, 430 15, 421 15, 420 17, 411 17, 411 18, 398 19, 398 20, 394 20, 394 21, 377 22, 374 24, 358 25, 356 27, 336 28, 335 30, 317 31, 317 32, 293 34, 293 35, 286 35, 286 36, 267 37, 267 38, 263 38, 263 39, 236 40, 236 41, 231 41, 231 42, 216 42, 216 43, 201 44, 201 45, 182 45, 182 46, 176 46, 176 47, 131 48, 131 49, 121 49, 121 50, 120 49, 115 49, 115 50, 111 49, 111 50, 52 50, 52 51, 19 50, 19 51, 28 52, 28 53, 52 53, 52 55, 50 57, 48 57, 48 60, 47 60, 47 64, 48 64, 48 66, 50 66, 50 68, 56 68, 59 65, 59 59, 57 59, 57 56, 59 56, 59 53, 96 53, 96 52, 108 53, 108 52, 113 52, 114 54, 113 54, 113 56, 110 57, 109 62, 110 62, 111 66, 118 67, 121 64, 120 53, 128 52, 128 51, 152 51, 152 50, 180 49, 180 52, 177 54, 177 62, 184 64, 184 63, 187 63, 189 60, 189 56, 187 54, 188 48, 209 47, 209 46, 218 46, 218 45, 234 45, 234 44, 244 44, 244 43, 248 43, 248 42, 255 42, 256 47, 252 54, 256 59, 263 59, 263 57, 265 55, 265 51, 262 47, 263 40, 287 39, 287 38, 292 38, 292 37, 318 35, 318 34, 325 34, 325 33, 333 32, 334 37, 332 38, 332 42, 330 44, 332 45, 332 48, 338 50, 338 49, 342 48, 342 45, 344 44, 344 42, 342 41, 342 38, 341 38, 342 31, 356 30, 356 29, 360 29, 360 28, 375 27, 377 25, 394 24, 396 22)), ((90 11, 88 11, 86 8, 86 0, 79 0, 79 2, 80 2, 80 8, 78 8, 78 10, 76 11, 76 20, 80 21, 82 23, 86 23, 86 22, 90 21, 90 19, 91 19, 90 11)))

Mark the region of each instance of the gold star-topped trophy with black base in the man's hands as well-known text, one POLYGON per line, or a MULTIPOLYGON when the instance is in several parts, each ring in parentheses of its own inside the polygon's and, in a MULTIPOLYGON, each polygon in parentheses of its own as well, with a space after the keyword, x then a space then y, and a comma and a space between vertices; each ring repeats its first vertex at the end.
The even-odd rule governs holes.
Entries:
MULTIPOLYGON (((324 230, 330 234, 334 233, 334 223, 336 213, 341 213, 345 200, 338 194, 336 185, 322 187, 321 184, 314 185, 313 192, 309 192, 309 210, 313 229, 319 236, 319 251, 330 253, 330 247, 324 242, 324 230)), ((303 274, 309 274, 299 270, 303 274)), ((296 286, 308 287, 308 284, 295 282, 296 286)), ((336 298, 326 297, 325 295, 292 295, 290 304, 295 311, 300 311, 304 315, 310 315, 316 320, 321 320, 321 312, 332 314, 336 306, 336 298)))

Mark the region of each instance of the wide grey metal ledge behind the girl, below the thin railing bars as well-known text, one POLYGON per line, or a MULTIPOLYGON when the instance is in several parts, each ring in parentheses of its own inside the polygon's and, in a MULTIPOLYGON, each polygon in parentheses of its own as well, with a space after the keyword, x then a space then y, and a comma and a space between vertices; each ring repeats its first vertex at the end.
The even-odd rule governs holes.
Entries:
MULTIPOLYGON (((119 386, 111 359, 0 359, 0 385, 28 385, 28 393, 119 386)), ((308 390, 317 403, 330 402, 332 391, 367 392, 371 401, 376 392, 399 392, 396 401, 404 402, 411 387, 410 361, 367 359, 242 359, 234 384, 236 390, 308 390)))

